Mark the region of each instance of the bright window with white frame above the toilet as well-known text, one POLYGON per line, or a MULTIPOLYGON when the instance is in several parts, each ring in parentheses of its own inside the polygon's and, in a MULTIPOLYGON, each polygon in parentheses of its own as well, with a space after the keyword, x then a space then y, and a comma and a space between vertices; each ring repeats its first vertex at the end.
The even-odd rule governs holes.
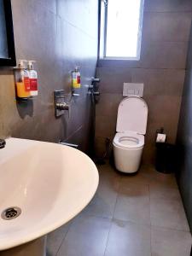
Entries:
POLYGON ((144 0, 102 0, 100 57, 139 60, 144 0))

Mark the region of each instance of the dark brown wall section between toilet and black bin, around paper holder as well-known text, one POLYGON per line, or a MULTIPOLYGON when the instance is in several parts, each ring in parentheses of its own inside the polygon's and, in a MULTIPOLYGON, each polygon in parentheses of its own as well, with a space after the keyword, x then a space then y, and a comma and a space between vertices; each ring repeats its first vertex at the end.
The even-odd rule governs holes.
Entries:
POLYGON ((157 129, 163 127, 167 142, 175 144, 181 96, 145 96, 148 104, 148 127, 145 136, 143 161, 154 163, 157 129))

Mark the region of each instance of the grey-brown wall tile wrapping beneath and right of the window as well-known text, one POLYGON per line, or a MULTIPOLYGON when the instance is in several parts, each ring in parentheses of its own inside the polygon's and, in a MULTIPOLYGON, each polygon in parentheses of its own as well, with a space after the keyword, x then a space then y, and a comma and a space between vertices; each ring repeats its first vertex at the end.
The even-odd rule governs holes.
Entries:
POLYGON ((124 71, 130 68, 185 68, 188 42, 152 41, 144 38, 143 35, 140 61, 100 60, 97 67, 119 67, 124 71))

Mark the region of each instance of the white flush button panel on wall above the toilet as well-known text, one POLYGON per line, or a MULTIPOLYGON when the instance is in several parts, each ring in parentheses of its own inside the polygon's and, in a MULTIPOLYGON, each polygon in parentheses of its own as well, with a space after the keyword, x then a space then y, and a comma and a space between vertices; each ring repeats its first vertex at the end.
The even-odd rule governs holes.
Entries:
POLYGON ((124 83, 123 96, 143 97, 144 84, 124 83))

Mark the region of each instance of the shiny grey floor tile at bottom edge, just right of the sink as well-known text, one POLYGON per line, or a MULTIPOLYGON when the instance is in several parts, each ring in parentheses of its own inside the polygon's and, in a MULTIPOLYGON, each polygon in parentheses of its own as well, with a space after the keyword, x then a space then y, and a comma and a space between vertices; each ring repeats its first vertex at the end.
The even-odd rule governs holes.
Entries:
POLYGON ((108 240, 108 218, 75 218, 57 256, 102 256, 108 240))

